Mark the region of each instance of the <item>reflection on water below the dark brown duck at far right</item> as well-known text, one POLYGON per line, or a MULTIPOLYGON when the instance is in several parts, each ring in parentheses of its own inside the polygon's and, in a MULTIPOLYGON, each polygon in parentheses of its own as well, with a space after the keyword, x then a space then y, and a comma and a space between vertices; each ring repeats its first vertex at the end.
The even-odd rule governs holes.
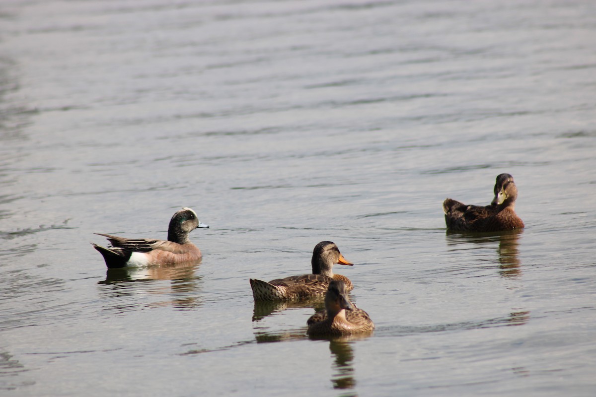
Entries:
POLYGON ((507 232, 492 233, 459 233, 447 231, 447 245, 464 243, 486 244, 498 242, 496 249, 499 261, 499 274, 503 277, 519 277, 522 274, 519 260, 519 238, 523 229, 508 230, 507 232))

